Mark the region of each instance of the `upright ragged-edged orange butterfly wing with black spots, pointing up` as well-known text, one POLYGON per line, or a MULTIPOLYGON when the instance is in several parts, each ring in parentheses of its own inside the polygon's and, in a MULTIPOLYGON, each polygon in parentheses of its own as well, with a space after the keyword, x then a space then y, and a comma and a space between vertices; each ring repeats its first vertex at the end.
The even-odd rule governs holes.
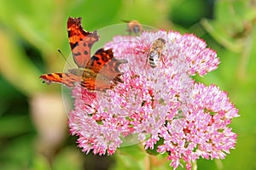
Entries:
POLYGON ((90 48, 99 40, 97 31, 85 31, 81 26, 82 18, 69 17, 67 20, 67 33, 73 60, 79 68, 84 68, 90 60, 90 48))

